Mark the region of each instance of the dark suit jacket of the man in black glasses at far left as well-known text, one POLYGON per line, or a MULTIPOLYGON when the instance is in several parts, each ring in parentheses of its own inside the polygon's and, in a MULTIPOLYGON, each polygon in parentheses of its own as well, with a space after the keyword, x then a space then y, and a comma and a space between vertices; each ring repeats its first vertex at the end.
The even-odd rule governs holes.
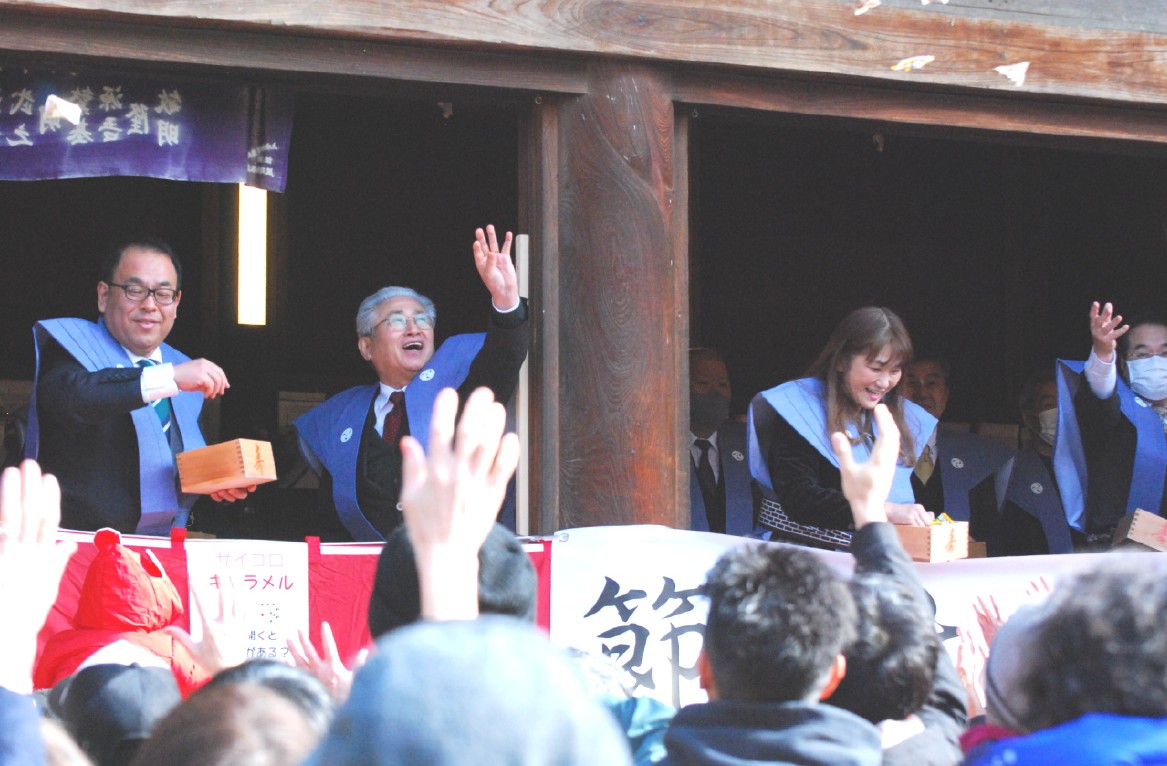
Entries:
POLYGON ((141 497, 138 436, 130 412, 146 406, 141 369, 89 372, 53 341, 46 342, 42 354, 37 460, 61 482, 61 525, 133 532, 141 518, 141 497))

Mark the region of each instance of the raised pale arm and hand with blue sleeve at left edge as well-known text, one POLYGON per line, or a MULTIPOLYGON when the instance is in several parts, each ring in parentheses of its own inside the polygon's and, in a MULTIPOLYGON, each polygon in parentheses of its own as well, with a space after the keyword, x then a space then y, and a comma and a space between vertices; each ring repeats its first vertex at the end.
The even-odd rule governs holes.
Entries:
POLYGON ((61 488, 26 460, 0 476, 0 766, 44 762, 40 713, 32 697, 36 634, 57 600, 76 550, 57 544, 61 488))

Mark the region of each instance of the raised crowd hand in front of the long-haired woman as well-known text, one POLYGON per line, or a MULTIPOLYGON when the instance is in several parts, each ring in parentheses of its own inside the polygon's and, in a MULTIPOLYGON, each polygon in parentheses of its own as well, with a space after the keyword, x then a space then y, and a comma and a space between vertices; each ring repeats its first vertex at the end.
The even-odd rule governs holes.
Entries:
POLYGON ((881 403, 875 405, 874 416, 879 436, 866 462, 855 462, 847 434, 831 434, 831 448, 839 460, 843 494, 851 502, 855 529, 888 521, 887 496, 892 492, 895 464, 900 457, 900 430, 892 412, 881 403))

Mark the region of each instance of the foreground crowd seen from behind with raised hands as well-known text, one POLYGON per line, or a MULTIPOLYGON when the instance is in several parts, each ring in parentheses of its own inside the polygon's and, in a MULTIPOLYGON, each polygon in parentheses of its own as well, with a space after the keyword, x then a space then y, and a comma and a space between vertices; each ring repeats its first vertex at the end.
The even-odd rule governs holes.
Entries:
MULTIPOLYGON (((1125 764, 1167 758, 1167 578, 1158 557, 1098 556, 1004 625, 986 620, 985 719, 934 627, 888 521, 902 461, 872 409, 864 461, 832 434, 851 509, 848 579, 804 548, 743 539, 706 577, 707 702, 623 691, 602 656, 531 622, 534 578, 495 518, 518 461, 488 389, 434 402, 428 447, 401 440, 403 539, 386 545, 372 655, 347 667, 293 641, 298 667, 240 661, 233 610, 196 604, 176 638, 209 680, 105 661, 34 694, 36 635, 74 552, 34 461, 0 482, 0 764, 1125 764), (391 559, 391 560, 390 560, 391 559), (413 578, 394 577, 404 563, 413 578), (499 591, 503 593, 499 596, 499 591)), ((140 648, 140 647, 139 647, 140 648)), ((139 653, 142 656, 145 653, 139 653)), ((123 654, 124 660, 130 653, 123 654)))

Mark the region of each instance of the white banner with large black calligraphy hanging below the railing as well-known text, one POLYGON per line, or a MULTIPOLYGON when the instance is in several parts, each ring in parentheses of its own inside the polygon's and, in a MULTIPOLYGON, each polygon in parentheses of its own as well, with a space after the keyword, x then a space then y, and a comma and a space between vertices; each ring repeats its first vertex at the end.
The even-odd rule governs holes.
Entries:
MULTIPOLYGON (((698 589, 732 545, 760 543, 668 527, 588 527, 555 535, 551 556, 551 638, 612 656, 636 683, 635 694, 680 706, 705 699, 697 678, 707 601, 698 589)), ((850 576, 850 553, 804 549, 850 576)), ((916 564, 936 600, 937 629, 950 652, 956 627, 976 625, 972 604, 993 597, 1004 614, 1027 600, 1039 577, 1050 586, 1067 572, 1099 562, 1097 553, 976 558, 916 564)))

